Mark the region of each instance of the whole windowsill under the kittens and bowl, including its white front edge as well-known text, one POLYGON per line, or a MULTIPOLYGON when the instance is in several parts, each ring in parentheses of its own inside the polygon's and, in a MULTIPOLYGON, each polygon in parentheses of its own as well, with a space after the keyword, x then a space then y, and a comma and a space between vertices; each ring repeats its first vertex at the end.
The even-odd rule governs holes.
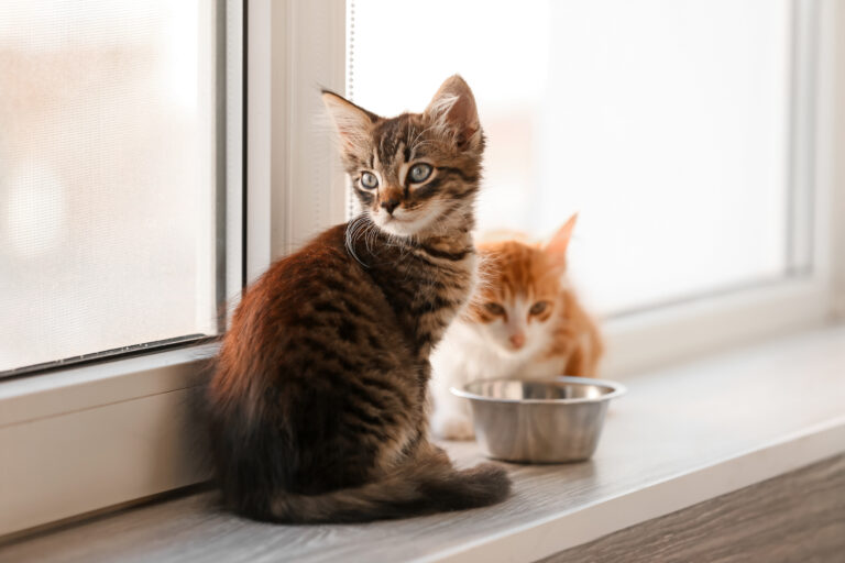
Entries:
MULTIPOLYGON (((845 325, 626 385, 590 462, 508 465, 516 493, 495 507, 370 526, 278 527, 210 510, 207 495, 194 495, 23 539, 4 555, 535 560, 845 451, 845 325)), ((461 464, 481 459, 472 443, 447 448, 461 464)))

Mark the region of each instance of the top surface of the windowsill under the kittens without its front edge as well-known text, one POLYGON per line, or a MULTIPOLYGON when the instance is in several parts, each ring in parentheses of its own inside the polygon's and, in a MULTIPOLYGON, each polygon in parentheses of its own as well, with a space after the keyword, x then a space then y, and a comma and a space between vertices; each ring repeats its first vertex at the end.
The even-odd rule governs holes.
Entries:
MULTIPOLYGON (((578 514, 632 492, 657 490, 680 475, 842 420, 845 329, 737 351, 625 383, 629 394, 611 406, 592 461, 507 465, 516 490, 496 507, 367 526, 286 527, 222 514, 209 494, 202 494, 19 539, 0 547, 0 561, 448 559, 468 547, 485 544, 492 537, 578 514)), ((463 465, 480 461, 474 444, 447 448, 463 465)), ((570 532, 563 528, 556 533, 567 540, 570 532)), ((508 556, 523 559, 519 553, 508 556)), ((480 558, 474 560, 501 559, 495 552, 480 558)))

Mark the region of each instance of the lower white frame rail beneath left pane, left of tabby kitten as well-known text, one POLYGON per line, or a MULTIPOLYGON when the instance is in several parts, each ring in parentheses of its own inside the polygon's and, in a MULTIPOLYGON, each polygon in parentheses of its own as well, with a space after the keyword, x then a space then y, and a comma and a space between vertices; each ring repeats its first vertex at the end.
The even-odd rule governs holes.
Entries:
POLYGON ((187 405, 217 349, 0 382, 0 537, 202 479, 187 405))

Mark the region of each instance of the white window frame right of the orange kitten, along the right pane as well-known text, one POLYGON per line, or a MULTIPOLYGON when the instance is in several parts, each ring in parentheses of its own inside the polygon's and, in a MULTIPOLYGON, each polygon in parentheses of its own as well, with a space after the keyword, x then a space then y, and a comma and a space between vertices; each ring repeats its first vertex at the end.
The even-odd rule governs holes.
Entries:
POLYGON ((845 167, 837 158, 845 150, 845 123, 836 108, 837 97, 845 93, 845 73, 837 70, 845 63, 845 7, 835 0, 795 0, 794 9, 798 44, 792 56, 801 76, 792 84, 790 158, 798 189, 789 205, 798 211, 791 225, 797 236, 789 244, 795 254, 812 254, 804 256, 811 269, 613 319, 605 327, 611 351, 606 376, 820 327, 845 314, 845 228, 839 222, 845 167))

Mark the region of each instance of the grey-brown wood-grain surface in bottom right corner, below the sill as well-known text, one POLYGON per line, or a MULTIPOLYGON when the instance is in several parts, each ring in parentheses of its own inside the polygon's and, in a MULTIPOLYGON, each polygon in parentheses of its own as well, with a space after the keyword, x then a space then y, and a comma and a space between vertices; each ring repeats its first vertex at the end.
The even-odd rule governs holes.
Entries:
POLYGON ((845 456, 566 550, 545 563, 842 563, 845 456))

